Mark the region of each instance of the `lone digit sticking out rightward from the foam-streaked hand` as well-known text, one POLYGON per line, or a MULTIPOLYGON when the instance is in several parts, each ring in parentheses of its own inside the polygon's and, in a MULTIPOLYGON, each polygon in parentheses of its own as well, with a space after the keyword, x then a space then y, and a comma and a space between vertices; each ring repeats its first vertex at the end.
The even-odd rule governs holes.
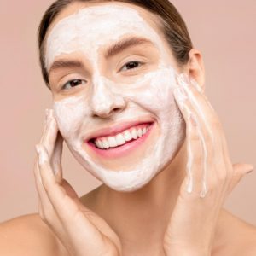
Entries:
POLYGON ((246 174, 253 172, 253 166, 249 164, 234 164, 233 165, 233 177, 228 189, 228 194, 235 189, 236 185, 241 181, 241 178, 246 174))

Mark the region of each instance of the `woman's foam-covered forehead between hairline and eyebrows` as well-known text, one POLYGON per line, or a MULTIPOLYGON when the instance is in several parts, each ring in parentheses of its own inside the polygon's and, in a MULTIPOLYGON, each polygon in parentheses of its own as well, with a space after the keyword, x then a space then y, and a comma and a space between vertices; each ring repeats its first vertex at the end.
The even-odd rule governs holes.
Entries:
POLYGON ((160 19, 130 3, 71 4, 49 27, 45 44, 46 67, 61 54, 92 51, 137 34, 160 44, 160 19))

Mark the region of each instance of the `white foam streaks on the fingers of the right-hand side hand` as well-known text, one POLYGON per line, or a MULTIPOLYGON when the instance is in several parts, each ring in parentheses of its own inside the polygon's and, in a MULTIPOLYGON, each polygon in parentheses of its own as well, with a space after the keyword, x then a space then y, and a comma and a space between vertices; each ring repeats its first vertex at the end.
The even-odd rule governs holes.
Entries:
MULTIPOLYGON (((200 152, 193 152, 192 150, 192 143, 190 139, 188 139, 188 145, 187 145, 187 156, 188 156, 188 162, 186 166, 187 171, 187 191, 188 193, 192 193, 194 189, 194 180, 193 180, 193 170, 195 172, 200 171, 200 166, 193 166, 193 162, 195 159, 195 154, 201 154, 201 161, 202 161, 202 178, 201 178, 201 198, 206 197, 208 192, 208 186, 207 186, 207 177, 209 172, 211 172, 211 158, 214 157, 214 151, 212 152, 212 156, 209 157, 208 155, 208 148, 207 148, 207 142, 206 142, 206 134, 211 138, 212 145, 214 145, 214 135, 212 133, 212 128, 208 124, 207 115, 205 111, 202 111, 201 103, 199 100, 195 97, 195 95, 192 93, 192 91, 189 89, 191 86, 194 86, 196 90, 199 91, 199 93, 202 93, 201 86, 197 84, 195 79, 189 79, 189 77, 186 74, 180 74, 177 76, 177 84, 176 87, 176 94, 177 94, 177 100, 179 102, 179 105, 181 108, 183 108, 183 111, 185 111, 189 116, 189 125, 187 125, 187 132, 189 134, 194 133, 195 137, 195 131, 196 136, 199 139, 199 142, 201 143, 201 153, 200 152), (185 102, 189 101, 192 108, 194 109, 194 113, 192 113, 192 110, 188 107, 188 104, 185 102), (191 122, 190 119, 193 119, 193 122, 191 122), (201 119, 201 120, 199 120, 201 119), (193 123, 193 124, 192 124, 193 123), (195 129, 195 131, 192 131, 192 129, 195 129), (208 161, 209 160, 209 161, 208 161)), ((212 108, 212 105, 210 102, 207 103, 208 108, 212 108)), ((212 108, 212 111, 214 109, 212 108)), ((195 141, 195 138, 194 138, 195 141)), ((214 146, 213 146, 214 147, 214 146)))

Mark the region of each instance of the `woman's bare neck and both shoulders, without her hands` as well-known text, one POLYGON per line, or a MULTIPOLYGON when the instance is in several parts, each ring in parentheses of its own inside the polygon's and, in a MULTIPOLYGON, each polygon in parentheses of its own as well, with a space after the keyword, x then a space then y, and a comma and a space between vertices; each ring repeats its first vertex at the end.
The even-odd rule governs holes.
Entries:
MULTIPOLYGON (((183 148, 173 164, 176 162, 177 165, 177 160, 182 155, 183 148)), ((161 236, 166 228, 169 212, 173 209, 173 205, 168 205, 168 202, 175 201, 175 198, 172 201, 170 194, 165 194, 168 192, 162 189, 166 176, 165 171, 160 172, 154 181, 136 195, 119 195, 102 185, 79 200, 111 225, 122 241, 123 255, 166 255, 161 236), (161 187, 158 187, 160 184, 161 187), (108 200, 105 196, 108 196, 108 200)), ((173 188, 170 180, 166 184, 169 184, 167 188, 173 188)), ((38 213, 4 222, 0 225, 0 237, 2 255, 69 255, 38 213)), ((218 217, 212 255, 253 256, 255 245, 255 227, 222 209, 218 217)))

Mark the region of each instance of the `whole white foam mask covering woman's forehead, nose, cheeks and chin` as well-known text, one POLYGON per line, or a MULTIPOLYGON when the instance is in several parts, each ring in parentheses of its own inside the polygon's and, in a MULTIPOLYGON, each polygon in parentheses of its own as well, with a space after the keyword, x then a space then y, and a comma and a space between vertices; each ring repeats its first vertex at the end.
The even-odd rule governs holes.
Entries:
MULTIPOLYGON (((49 33, 46 44, 46 66, 49 69, 61 54, 80 51, 93 67, 93 94, 70 96, 55 102, 55 118, 68 148, 84 168, 109 187, 131 191, 148 183, 181 147, 185 136, 182 115, 172 94, 176 86, 176 70, 163 39, 143 17, 126 6, 113 3, 79 10, 60 20, 49 33), (140 36, 154 42, 160 52, 160 63, 153 72, 140 76, 132 83, 119 83, 102 76, 99 68, 99 49, 124 36, 140 36), (154 116, 159 136, 145 150, 143 159, 113 170, 97 162, 84 148, 84 135, 93 126, 101 129, 92 113, 106 113, 111 106, 126 108, 115 116, 115 123, 154 116)), ((104 124, 103 120, 102 123, 104 124)), ((104 125, 106 127, 106 125, 104 125)), ((150 139, 150 137, 148 138, 150 139)), ((114 161, 114 160, 113 160, 114 161)))

